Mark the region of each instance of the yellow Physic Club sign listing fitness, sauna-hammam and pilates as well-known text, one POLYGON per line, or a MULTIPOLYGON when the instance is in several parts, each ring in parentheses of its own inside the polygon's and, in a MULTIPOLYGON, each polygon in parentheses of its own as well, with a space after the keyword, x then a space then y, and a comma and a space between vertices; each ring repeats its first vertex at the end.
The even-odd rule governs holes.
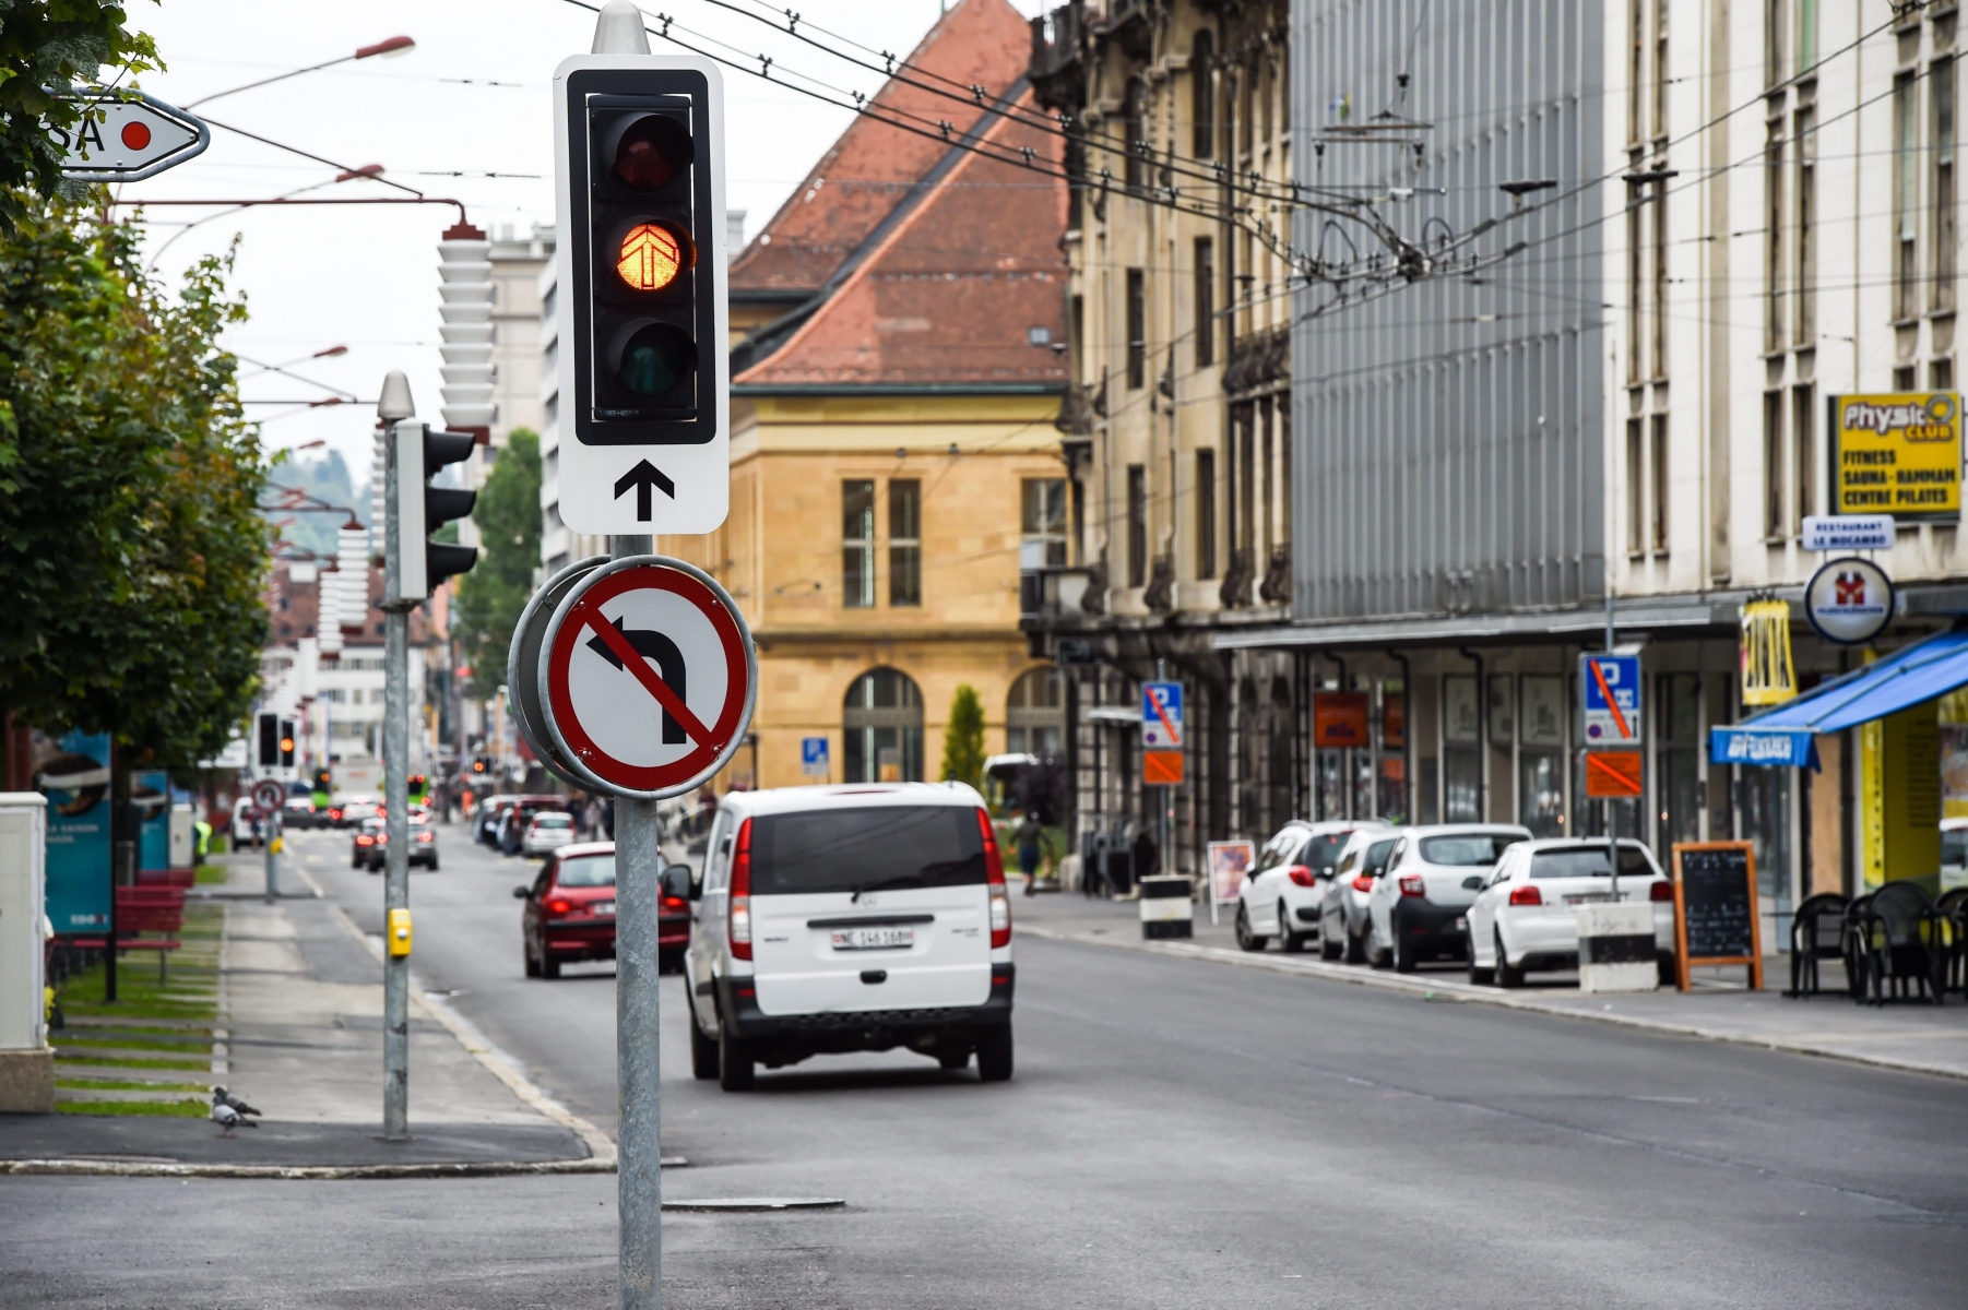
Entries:
POLYGON ((1954 391, 1832 397, 1832 513, 1956 521, 1962 403, 1954 391))

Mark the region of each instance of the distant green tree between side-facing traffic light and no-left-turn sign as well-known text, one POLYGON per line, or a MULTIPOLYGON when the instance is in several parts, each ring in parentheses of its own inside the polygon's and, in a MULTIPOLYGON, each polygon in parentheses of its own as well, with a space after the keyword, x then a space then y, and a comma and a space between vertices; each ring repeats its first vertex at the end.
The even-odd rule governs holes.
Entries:
POLYGON ((490 698, 506 683, 506 649, 539 568, 539 435, 516 427, 478 490, 472 523, 484 555, 459 578, 453 635, 472 669, 472 694, 490 698))

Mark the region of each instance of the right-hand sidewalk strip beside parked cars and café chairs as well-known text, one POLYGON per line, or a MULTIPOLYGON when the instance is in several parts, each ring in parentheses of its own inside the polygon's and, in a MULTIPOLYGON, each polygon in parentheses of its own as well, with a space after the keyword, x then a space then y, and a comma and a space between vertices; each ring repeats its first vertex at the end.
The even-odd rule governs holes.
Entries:
POLYGON ((1193 940, 1147 942, 1141 940, 1134 901, 1092 901, 1076 893, 1012 897, 1012 921, 1017 932, 1029 936, 1322 978, 1427 1001, 1504 1005, 1651 1033, 1968 1078, 1968 1005, 1960 999, 1946 1005, 1901 1001, 1879 1009, 1856 1005, 1840 989, 1844 976, 1836 964, 1824 966, 1824 985, 1834 991, 1807 999, 1781 995, 1791 980, 1787 956, 1765 960, 1763 991, 1748 989, 1748 970, 1742 968, 1700 970, 1694 989, 1687 993, 1584 995, 1576 989, 1576 974, 1533 974, 1527 987, 1506 991, 1470 983, 1460 964, 1425 964, 1415 974, 1393 974, 1364 964, 1330 964, 1317 952, 1287 956, 1275 946, 1261 954, 1242 952, 1230 932, 1232 913, 1224 907, 1222 923, 1212 926, 1208 907, 1199 905, 1193 940))

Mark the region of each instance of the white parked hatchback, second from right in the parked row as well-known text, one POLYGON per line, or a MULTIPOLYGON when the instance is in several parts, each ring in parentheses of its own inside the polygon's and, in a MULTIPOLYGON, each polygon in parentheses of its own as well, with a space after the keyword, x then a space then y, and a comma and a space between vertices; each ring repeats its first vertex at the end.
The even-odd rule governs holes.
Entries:
POLYGON ((1415 972, 1421 960, 1464 958, 1468 913, 1498 858, 1531 830, 1515 824, 1407 828, 1366 897, 1366 958, 1415 972))

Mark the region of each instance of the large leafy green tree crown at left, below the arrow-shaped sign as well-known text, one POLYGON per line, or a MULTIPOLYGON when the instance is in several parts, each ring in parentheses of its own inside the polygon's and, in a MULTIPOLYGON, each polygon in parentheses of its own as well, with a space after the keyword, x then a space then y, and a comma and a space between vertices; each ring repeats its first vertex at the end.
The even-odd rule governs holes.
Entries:
MULTIPOLYGON (((0 0, 4 2, 4 0, 0 0)), ((132 224, 16 193, 0 236, 0 706, 189 771, 252 702, 266 635, 260 437, 230 258, 165 295, 132 224)))

